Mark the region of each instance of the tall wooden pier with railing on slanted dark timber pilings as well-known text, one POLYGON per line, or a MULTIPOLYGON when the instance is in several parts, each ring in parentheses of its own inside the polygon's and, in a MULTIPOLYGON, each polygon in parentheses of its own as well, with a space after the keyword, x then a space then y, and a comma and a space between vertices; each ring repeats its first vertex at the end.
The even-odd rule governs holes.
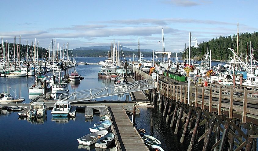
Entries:
MULTIPOLYGON (((161 76, 162 77, 162 76, 161 76)), ((151 78, 148 74, 134 68, 135 80, 151 78)), ((148 93, 149 100, 163 114, 163 118, 174 130, 182 134, 180 143, 186 135, 190 142, 184 142, 188 151, 197 142, 203 141, 203 151, 256 150, 258 138, 258 91, 246 86, 209 87, 190 85, 190 100, 186 83, 158 78, 157 89, 148 93), (196 138, 198 129, 204 127, 201 137, 196 138), (215 136, 215 142, 210 141, 215 136)), ((256 88, 257 89, 257 88, 256 88)), ((151 111, 151 116, 153 112, 151 111)))

